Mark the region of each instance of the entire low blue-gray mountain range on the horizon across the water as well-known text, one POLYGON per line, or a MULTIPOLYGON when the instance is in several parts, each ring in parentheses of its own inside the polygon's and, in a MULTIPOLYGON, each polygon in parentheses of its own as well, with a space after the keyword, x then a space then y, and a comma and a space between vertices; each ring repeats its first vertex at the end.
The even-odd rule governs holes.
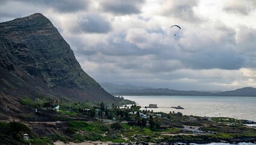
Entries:
POLYGON ((246 87, 233 91, 179 91, 168 88, 151 88, 149 86, 114 85, 100 83, 102 88, 113 95, 199 95, 199 96, 248 96, 256 97, 256 88, 246 87))

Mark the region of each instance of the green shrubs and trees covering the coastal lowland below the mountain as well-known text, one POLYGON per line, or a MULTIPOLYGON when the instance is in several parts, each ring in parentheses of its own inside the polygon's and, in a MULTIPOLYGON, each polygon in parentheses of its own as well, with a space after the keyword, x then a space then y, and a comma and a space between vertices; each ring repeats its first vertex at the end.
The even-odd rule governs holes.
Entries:
POLYGON ((242 123, 245 121, 234 118, 215 117, 211 118, 213 121, 208 121, 206 117, 186 116, 179 112, 166 114, 141 110, 137 105, 120 108, 117 103, 64 102, 41 95, 34 99, 22 98, 20 102, 22 105, 39 109, 37 113, 19 114, 22 120, 34 121, 36 116, 41 121, 46 118, 49 121, 63 122, 56 122, 56 125, 45 124, 51 129, 57 128, 53 131, 56 133, 47 137, 34 135, 30 128, 22 123, 1 122, 1 131, 4 132, 0 134, 1 137, 7 138, 8 141, 14 139, 13 144, 15 141, 23 144, 52 144, 58 140, 65 143, 209 143, 256 138, 255 129, 244 126, 242 123), (51 108, 56 105, 60 106, 60 110, 52 111, 51 108), (29 142, 22 140, 24 132, 30 135, 29 142))

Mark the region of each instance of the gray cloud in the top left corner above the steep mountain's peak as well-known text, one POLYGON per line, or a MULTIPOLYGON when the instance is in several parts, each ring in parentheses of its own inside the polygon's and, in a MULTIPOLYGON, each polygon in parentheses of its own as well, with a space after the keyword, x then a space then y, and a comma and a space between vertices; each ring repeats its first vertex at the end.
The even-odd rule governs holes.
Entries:
POLYGON ((33 13, 45 14, 48 10, 54 10, 57 13, 76 13, 77 11, 87 10, 90 1, 1 0, 0 4, 0 21, 9 21, 10 19, 28 16, 33 13))

